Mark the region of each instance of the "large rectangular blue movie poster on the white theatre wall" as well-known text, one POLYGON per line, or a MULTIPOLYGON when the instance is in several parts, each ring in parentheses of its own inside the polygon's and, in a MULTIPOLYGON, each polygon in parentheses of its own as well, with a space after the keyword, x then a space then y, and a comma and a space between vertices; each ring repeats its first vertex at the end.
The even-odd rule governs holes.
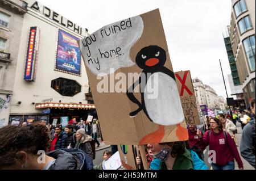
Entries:
POLYGON ((81 53, 77 37, 59 30, 55 70, 81 76, 81 53))

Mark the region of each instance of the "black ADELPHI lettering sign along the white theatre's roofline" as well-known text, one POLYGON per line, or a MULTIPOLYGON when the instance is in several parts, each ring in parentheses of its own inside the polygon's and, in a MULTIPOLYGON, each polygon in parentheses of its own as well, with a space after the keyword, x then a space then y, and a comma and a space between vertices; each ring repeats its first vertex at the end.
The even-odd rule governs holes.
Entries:
POLYGON ((75 23, 71 22, 70 20, 64 18, 63 16, 57 14, 57 12, 49 9, 48 7, 42 5, 40 2, 35 1, 29 5, 31 9, 38 11, 40 14, 46 16, 47 18, 52 19, 53 21, 61 24, 64 27, 71 29, 74 32, 79 33, 80 35, 85 35, 85 29, 77 26, 75 23))

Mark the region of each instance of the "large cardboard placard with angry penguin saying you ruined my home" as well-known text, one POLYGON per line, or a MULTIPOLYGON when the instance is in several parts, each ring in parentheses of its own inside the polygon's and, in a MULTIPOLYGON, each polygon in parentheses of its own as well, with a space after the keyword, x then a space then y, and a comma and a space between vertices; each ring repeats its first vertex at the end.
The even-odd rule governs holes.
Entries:
POLYGON ((159 10, 78 41, 105 144, 188 140, 159 10))

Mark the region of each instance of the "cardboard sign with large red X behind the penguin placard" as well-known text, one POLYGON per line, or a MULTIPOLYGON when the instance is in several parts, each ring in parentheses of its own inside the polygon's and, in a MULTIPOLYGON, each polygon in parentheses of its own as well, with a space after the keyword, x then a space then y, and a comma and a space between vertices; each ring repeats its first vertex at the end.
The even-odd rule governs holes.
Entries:
POLYGON ((175 73, 177 87, 180 92, 180 101, 187 124, 200 125, 199 113, 197 111, 196 97, 193 89, 190 71, 177 71, 175 73))

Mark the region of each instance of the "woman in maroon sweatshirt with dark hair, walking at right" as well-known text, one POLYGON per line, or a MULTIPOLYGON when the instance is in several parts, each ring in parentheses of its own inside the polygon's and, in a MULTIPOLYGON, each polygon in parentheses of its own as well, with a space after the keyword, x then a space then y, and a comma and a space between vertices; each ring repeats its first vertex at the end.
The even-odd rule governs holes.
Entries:
MULTIPOLYGON (((222 123, 216 117, 210 119, 210 130, 204 136, 197 132, 204 146, 209 145, 212 155, 213 170, 234 170, 234 158, 240 170, 243 170, 243 163, 237 150, 237 146, 229 133, 223 130, 222 123)), ((209 160, 209 159, 208 159, 209 160)))

